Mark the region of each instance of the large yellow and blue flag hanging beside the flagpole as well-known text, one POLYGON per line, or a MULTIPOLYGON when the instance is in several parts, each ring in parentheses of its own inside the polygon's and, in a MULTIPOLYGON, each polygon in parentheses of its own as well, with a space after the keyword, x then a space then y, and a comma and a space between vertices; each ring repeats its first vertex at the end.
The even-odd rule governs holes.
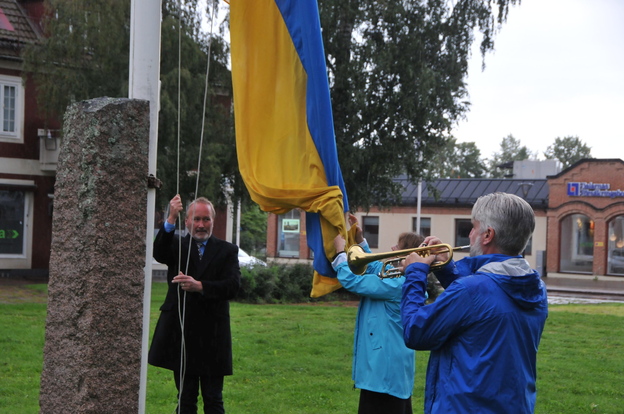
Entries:
POLYGON ((330 261, 348 204, 316 0, 230 0, 230 41, 241 176, 264 211, 306 211, 323 296, 340 287, 330 261))

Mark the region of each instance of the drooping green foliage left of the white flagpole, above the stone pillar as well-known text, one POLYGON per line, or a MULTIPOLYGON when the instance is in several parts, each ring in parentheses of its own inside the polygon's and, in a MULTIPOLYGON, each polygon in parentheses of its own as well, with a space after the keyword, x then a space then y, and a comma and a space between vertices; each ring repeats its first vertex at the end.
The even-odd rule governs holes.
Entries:
POLYGON ((128 96, 130 1, 49 0, 44 37, 24 48, 44 118, 62 118, 72 102, 128 96))

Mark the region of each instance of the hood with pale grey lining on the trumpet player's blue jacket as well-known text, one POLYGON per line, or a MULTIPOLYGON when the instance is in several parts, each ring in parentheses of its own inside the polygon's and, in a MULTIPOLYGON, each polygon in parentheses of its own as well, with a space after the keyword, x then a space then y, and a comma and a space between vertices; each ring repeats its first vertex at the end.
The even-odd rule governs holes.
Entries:
POLYGON ((546 289, 540 274, 522 256, 483 254, 466 258, 474 272, 487 274, 500 289, 520 306, 532 309, 546 299, 546 289))

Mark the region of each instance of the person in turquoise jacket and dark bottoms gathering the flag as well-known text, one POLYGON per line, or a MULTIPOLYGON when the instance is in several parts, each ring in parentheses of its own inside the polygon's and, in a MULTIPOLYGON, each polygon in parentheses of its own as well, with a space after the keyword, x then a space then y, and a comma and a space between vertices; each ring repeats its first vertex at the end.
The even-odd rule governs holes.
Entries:
MULTIPOLYGON (((355 216, 349 216, 354 224, 355 216)), ((361 228, 356 243, 371 253, 361 228)), ((392 250, 418 247, 424 238, 419 234, 402 233, 392 250)), ((379 279, 382 262, 373 262, 366 274, 358 276, 349 270, 344 253, 344 239, 334 239, 339 253, 332 266, 338 280, 349 292, 361 296, 353 338, 354 388, 360 388, 358 414, 410 414, 414 388, 414 351, 403 343, 399 303, 404 277, 379 279)))

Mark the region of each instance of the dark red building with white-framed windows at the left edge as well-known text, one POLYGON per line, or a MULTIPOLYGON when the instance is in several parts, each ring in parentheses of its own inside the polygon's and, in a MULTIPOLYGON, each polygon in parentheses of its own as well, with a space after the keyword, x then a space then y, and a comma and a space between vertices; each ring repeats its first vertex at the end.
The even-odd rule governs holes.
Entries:
POLYGON ((37 109, 21 50, 41 36, 42 1, 0 1, 0 277, 47 274, 60 147, 37 109))

